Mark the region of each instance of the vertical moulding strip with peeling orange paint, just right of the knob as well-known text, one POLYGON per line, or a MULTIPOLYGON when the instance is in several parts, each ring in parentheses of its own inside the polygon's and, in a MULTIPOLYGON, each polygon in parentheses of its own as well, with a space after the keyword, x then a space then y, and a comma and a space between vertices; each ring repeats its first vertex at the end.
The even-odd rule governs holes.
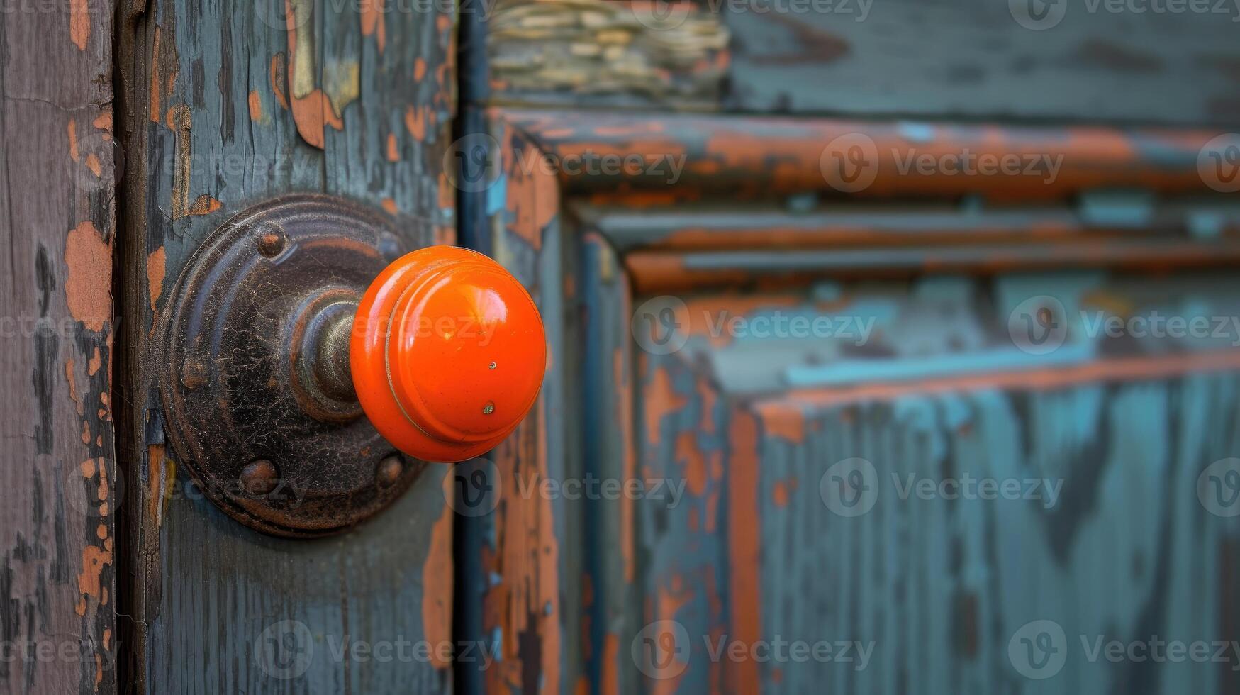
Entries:
MULTIPOLYGON (((578 550, 565 544, 568 505, 539 491, 544 480, 579 475, 569 455, 568 433, 578 417, 564 376, 573 356, 564 300, 564 254, 559 186, 542 153, 502 120, 492 122, 498 153, 497 179, 486 189, 492 251, 526 285, 547 329, 547 376, 533 411, 492 452, 500 475, 498 504, 486 518, 482 566, 490 580, 484 627, 502 658, 486 673, 486 691, 496 695, 554 694, 577 681, 577 627, 565 624, 564 606, 580 604, 578 550), (567 637, 572 635, 572 637, 567 637)), ((572 248, 572 247, 569 247, 572 248)))

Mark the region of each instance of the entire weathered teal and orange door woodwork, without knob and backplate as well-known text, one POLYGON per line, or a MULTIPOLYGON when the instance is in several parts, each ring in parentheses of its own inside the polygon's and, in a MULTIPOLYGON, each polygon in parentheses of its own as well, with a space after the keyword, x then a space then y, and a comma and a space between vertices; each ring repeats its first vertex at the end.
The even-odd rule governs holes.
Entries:
POLYGON ((0 6, 0 685, 1236 691, 1240 24, 1132 5, 0 6), (298 540, 161 401, 196 249, 294 194, 547 345, 298 540))

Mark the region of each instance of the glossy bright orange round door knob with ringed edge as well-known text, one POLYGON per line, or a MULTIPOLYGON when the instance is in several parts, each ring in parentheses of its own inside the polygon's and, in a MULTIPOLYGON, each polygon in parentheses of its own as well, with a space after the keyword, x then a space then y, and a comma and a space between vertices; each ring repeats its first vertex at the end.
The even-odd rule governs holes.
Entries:
POLYGON ((466 248, 398 258, 353 316, 350 367, 362 410, 388 442, 424 460, 495 448, 533 407, 546 366, 529 293, 466 248))

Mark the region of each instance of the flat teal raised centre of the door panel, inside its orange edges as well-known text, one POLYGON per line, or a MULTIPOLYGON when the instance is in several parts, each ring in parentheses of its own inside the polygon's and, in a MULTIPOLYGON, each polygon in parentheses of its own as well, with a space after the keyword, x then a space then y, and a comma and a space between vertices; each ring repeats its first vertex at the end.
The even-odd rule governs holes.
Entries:
POLYGON ((1238 386, 1229 374, 911 395, 810 410, 802 442, 764 431, 763 634, 873 653, 864 668, 763 665, 763 690, 1233 691, 1240 526, 1203 505, 1198 480, 1236 455, 1238 386), (848 518, 820 483, 854 458, 875 489, 848 518), (966 475, 1021 482, 1024 496, 901 498, 910 479, 966 475), (1061 665, 1034 668, 1043 654, 1019 642, 1039 621, 1061 665), (1099 640, 1151 639, 1226 643, 1228 660, 1090 657, 1099 640))

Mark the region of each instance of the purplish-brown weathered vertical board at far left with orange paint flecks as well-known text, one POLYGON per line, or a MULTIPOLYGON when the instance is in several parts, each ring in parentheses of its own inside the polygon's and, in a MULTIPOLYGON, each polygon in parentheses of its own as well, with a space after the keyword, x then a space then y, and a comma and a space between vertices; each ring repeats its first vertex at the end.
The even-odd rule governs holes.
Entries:
POLYGON ((112 7, 0 12, 0 691, 115 693, 112 7))

